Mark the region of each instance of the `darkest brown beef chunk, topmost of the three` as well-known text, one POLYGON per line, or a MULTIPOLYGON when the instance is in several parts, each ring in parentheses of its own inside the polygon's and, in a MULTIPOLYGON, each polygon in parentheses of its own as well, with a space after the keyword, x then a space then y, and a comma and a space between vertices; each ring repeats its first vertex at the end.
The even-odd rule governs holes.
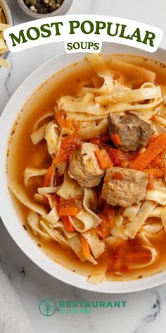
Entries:
POLYGON ((134 114, 119 116, 110 112, 108 114, 108 123, 110 138, 113 140, 113 135, 115 134, 118 134, 120 137, 118 145, 113 140, 114 145, 117 148, 125 150, 125 152, 146 147, 148 139, 153 133, 151 126, 134 114))

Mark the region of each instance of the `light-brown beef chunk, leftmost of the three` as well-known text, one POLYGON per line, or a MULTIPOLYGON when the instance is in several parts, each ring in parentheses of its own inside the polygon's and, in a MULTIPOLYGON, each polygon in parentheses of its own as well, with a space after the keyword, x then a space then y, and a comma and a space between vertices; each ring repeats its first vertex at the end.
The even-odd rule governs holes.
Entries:
POLYGON ((74 178, 80 186, 92 188, 101 182, 104 171, 98 164, 95 155, 98 146, 92 143, 83 143, 76 152, 72 152, 69 158, 68 174, 74 178))

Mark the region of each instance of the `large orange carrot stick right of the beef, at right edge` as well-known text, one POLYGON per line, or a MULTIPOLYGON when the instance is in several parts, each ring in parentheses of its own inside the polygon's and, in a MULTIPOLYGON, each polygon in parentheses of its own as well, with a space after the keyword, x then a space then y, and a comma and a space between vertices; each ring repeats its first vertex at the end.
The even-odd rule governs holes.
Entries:
POLYGON ((158 136, 158 138, 148 146, 145 152, 129 165, 130 169, 143 170, 146 166, 166 148, 166 133, 158 136))

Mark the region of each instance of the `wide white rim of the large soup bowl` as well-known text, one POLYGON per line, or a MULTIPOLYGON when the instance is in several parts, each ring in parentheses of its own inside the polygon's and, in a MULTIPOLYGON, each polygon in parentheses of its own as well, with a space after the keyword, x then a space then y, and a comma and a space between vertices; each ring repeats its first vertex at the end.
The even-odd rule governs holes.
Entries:
MULTIPOLYGON (((158 49, 155 54, 148 54, 140 50, 132 49, 131 47, 125 47, 119 44, 103 44, 103 53, 134 53, 143 56, 151 56, 151 58, 165 61, 166 51, 158 49)), ((103 283, 95 286, 89 284, 86 278, 71 272, 64 267, 56 264, 51 258, 48 258, 41 250, 36 246, 34 241, 27 236, 23 225, 20 223, 17 212, 13 207, 11 196, 8 192, 8 184, 6 178, 6 147, 8 143, 8 137, 11 132, 11 128, 15 121, 18 112, 23 107, 23 104, 32 95, 32 92, 41 85, 47 78, 53 73, 59 71, 61 68, 75 63, 83 59, 84 54, 58 54, 52 59, 41 65, 34 71, 26 80, 18 87, 11 99, 9 100, 6 108, 0 119, 0 183, 1 183, 1 200, 0 200, 0 214, 4 221, 6 229, 9 234, 15 240, 15 243, 23 250, 23 252, 42 270, 56 277, 60 281, 64 281, 72 286, 76 286, 89 291, 97 291, 102 293, 128 293, 132 291, 141 291, 143 289, 149 289, 153 286, 158 286, 166 282, 166 271, 159 274, 155 274, 152 277, 144 279, 137 279, 134 281, 104 281, 103 283)))

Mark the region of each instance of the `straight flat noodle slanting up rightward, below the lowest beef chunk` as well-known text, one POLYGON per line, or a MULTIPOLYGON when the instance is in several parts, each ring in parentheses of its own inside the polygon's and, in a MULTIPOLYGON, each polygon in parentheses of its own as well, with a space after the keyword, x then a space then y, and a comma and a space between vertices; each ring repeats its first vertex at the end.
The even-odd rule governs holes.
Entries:
POLYGON ((125 235, 129 236, 130 238, 134 238, 143 225, 143 223, 148 219, 149 214, 153 212, 155 207, 157 206, 156 202, 146 200, 139 212, 136 214, 136 217, 132 222, 129 223, 127 229, 125 229, 125 235))

